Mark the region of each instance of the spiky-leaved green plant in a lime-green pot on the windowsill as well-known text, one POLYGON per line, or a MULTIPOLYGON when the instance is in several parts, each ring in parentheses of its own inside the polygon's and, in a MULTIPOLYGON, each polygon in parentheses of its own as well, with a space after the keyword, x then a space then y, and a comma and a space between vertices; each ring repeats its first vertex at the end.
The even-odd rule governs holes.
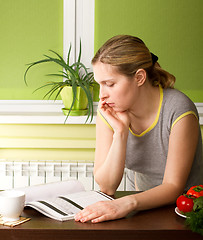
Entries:
POLYGON ((27 85, 27 73, 35 65, 41 63, 53 62, 63 68, 62 71, 59 71, 55 74, 47 74, 47 76, 54 76, 57 78, 63 78, 62 81, 50 81, 41 87, 37 88, 35 91, 49 87, 49 90, 45 94, 45 97, 48 99, 55 95, 55 100, 61 95, 63 104, 63 112, 67 115, 86 115, 87 119, 90 118, 90 122, 93 119, 93 85, 95 84, 93 73, 88 71, 88 68, 81 62, 81 41, 78 59, 76 62, 70 64, 70 53, 71 53, 71 44, 68 50, 67 60, 65 61, 58 53, 53 50, 50 50, 54 57, 44 55, 45 58, 33 63, 28 64, 28 67, 24 73, 24 81, 27 85))

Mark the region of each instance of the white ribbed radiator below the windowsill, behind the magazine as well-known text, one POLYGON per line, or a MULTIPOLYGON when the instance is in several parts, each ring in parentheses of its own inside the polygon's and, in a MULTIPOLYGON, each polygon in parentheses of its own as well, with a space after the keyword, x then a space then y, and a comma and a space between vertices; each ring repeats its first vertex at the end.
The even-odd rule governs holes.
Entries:
MULTIPOLYGON (((86 190, 99 190, 94 180, 92 162, 0 160, 0 190, 69 179, 78 179, 86 190)), ((128 190, 126 171, 118 190, 128 190)))

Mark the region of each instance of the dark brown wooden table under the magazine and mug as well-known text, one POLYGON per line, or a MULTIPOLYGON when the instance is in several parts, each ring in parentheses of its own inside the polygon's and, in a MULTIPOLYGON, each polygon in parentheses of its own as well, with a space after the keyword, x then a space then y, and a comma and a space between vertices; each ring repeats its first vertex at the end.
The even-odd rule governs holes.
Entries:
MULTIPOLYGON (((132 192, 118 192, 124 196, 132 192)), ((203 240, 185 225, 185 219, 178 216, 175 205, 132 213, 128 217, 92 224, 74 220, 60 222, 49 219, 33 209, 25 209, 22 216, 31 220, 16 226, 0 226, 2 240, 203 240)))

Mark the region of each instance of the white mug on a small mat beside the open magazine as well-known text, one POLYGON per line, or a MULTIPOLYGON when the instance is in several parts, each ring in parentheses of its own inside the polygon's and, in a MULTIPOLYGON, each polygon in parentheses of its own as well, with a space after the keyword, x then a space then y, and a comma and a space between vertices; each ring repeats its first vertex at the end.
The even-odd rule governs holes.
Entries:
POLYGON ((17 190, 0 192, 0 214, 4 221, 17 221, 23 211, 25 193, 17 190))

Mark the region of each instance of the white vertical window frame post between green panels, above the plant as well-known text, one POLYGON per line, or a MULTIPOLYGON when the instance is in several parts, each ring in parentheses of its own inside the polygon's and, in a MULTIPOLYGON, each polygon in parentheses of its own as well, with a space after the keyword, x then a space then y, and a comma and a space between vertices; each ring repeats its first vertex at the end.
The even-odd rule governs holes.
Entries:
POLYGON ((94 0, 64 0, 63 52, 67 58, 72 45, 70 61, 75 62, 82 42, 82 62, 91 68, 94 56, 94 0))

